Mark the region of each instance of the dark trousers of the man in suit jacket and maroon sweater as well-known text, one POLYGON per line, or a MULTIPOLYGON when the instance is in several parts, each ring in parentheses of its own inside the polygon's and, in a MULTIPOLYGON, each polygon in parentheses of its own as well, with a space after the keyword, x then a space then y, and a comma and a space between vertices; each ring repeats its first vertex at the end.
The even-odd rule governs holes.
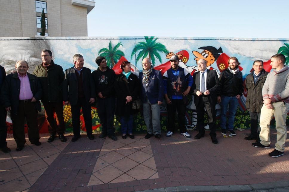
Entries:
POLYGON ((86 134, 92 135, 91 106, 84 97, 78 98, 76 105, 71 105, 73 136, 80 137, 80 108, 84 118, 86 134))

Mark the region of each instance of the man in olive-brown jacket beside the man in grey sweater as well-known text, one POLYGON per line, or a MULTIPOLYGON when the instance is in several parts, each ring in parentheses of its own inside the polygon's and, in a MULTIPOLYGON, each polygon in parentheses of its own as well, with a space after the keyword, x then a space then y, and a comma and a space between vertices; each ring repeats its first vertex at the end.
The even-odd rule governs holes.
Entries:
MULTIPOLYGON (((251 134, 245 140, 259 140, 258 124, 260 123, 261 108, 263 106, 262 88, 268 72, 263 69, 263 61, 256 60, 253 69, 246 77, 247 99, 246 108, 250 113, 251 134)), ((261 128, 259 128, 261 130, 261 128)))

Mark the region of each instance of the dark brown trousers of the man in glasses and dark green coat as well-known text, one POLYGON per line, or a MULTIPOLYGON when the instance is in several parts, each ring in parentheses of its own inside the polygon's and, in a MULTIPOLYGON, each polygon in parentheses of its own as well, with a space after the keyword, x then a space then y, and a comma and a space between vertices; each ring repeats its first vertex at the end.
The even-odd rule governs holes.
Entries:
POLYGON ((64 134, 63 102, 42 102, 50 134, 64 134), (55 119, 54 119, 55 114, 55 119))

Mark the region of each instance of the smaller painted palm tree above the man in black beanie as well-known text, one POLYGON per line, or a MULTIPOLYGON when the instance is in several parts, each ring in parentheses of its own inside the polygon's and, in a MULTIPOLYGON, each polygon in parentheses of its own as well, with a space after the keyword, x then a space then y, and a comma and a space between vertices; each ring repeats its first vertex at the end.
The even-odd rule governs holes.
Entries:
POLYGON ((108 49, 107 48, 102 48, 99 50, 98 55, 105 57, 106 61, 107 61, 107 66, 109 66, 110 68, 112 68, 113 66, 115 66, 115 64, 117 63, 117 61, 124 56, 124 53, 119 50, 119 46, 122 45, 122 42, 119 42, 118 44, 116 44, 116 46, 112 46, 111 41, 109 41, 108 44, 108 49))

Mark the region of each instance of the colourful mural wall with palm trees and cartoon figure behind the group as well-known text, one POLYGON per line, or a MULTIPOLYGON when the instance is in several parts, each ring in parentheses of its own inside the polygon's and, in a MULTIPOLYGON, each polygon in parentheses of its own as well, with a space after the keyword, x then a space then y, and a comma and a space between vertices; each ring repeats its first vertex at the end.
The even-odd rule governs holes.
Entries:
MULTIPOLYGON (((186 68, 192 75, 198 71, 196 62, 199 59, 207 61, 207 69, 216 70, 218 75, 227 69, 227 60, 235 56, 239 59, 243 80, 252 70, 253 61, 264 61, 264 69, 271 71, 270 58, 276 53, 286 56, 286 65, 289 63, 289 39, 254 39, 254 38, 162 38, 162 37, 103 37, 103 38, 0 38, 0 64, 5 67, 6 73, 14 70, 17 60, 25 59, 29 63, 28 72, 32 73, 35 66, 41 64, 41 50, 50 49, 53 52, 53 61, 63 69, 73 66, 72 57, 79 53, 84 57, 84 66, 94 71, 97 69, 95 58, 99 55, 107 59, 107 65, 116 74, 121 73, 122 61, 130 61, 135 74, 142 70, 142 59, 150 57, 154 69, 162 74, 170 68, 169 59, 173 54, 180 58, 180 66, 186 68)), ((244 83, 245 85, 245 83, 244 83)), ((235 119, 235 128, 250 128, 250 116, 245 108, 247 90, 239 100, 239 107, 235 119)), ((196 126, 196 106, 193 95, 188 95, 190 103, 187 105, 186 124, 188 129, 196 126)), ((219 125, 220 106, 216 105, 217 122, 219 125)), ((44 109, 39 113, 40 132, 47 132, 44 109)), ((101 125, 95 107, 91 108, 93 131, 101 131, 101 125)), ((71 108, 64 106, 64 119, 66 130, 72 132, 71 108)), ((83 116, 81 115, 81 128, 85 131, 83 116)), ((288 116, 287 116, 288 120, 288 116)), ((120 130, 118 117, 114 119, 116 130, 120 130)), ((167 130, 166 105, 161 106, 162 130, 167 130)), ((272 122, 274 123, 274 122, 272 122)), ((289 124, 289 121, 288 121, 289 124)), ((7 115, 8 132, 13 127, 10 115, 7 115)), ((208 128, 208 126, 206 126, 208 128)), ((146 126, 139 112, 134 117, 134 131, 145 131, 146 126)))

